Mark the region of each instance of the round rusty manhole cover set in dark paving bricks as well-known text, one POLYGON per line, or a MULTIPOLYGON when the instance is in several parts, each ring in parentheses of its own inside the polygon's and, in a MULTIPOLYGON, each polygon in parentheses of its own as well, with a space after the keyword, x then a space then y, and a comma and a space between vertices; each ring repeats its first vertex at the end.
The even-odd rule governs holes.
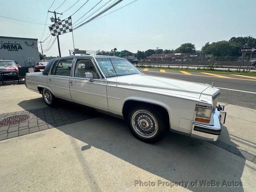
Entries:
POLYGON ((0 126, 14 125, 27 120, 30 120, 33 116, 29 114, 18 114, 5 117, 0 120, 0 126))

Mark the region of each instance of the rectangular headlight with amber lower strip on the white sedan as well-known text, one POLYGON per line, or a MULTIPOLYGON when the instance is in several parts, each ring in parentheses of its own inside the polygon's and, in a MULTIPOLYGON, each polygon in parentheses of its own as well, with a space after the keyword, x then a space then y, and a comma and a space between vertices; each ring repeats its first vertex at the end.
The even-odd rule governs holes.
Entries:
POLYGON ((212 107, 196 105, 195 121, 210 123, 212 107))

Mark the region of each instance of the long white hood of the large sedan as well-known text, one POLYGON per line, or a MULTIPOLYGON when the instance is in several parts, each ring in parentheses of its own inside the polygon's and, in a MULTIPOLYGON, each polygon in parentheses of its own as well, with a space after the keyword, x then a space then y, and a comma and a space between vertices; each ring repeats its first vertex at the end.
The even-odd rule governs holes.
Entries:
POLYGON ((172 78, 135 74, 108 78, 108 82, 118 87, 135 89, 144 92, 174 96, 212 104, 212 96, 219 92, 209 84, 188 82, 172 78), (205 95, 201 97, 201 95, 205 95), (201 98, 203 98, 203 100, 201 98))

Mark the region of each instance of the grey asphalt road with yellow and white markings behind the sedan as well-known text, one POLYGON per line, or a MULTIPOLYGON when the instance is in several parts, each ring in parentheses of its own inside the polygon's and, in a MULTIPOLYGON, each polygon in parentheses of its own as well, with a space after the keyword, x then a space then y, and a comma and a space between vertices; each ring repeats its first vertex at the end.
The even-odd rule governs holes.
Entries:
POLYGON ((211 74, 140 68, 142 72, 190 82, 208 83, 220 88, 219 102, 256 109, 256 76, 211 74))

